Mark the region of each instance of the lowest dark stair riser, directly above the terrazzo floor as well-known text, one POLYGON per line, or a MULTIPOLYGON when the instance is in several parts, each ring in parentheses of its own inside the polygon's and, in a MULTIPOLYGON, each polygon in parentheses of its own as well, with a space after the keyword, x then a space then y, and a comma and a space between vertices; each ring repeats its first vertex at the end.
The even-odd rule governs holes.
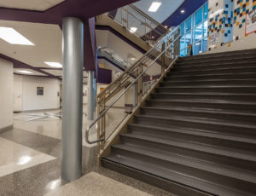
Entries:
POLYGON ((175 193, 177 195, 183 195, 183 196, 211 196, 212 195, 212 194, 196 191, 195 189, 191 189, 189 187, 184 187, 175 182, 166 181, 163 178, 159 178, 157 176, 153 176, 148 173, 140 172, 130 167, 125 167, 124 165, 121 165, 121 164, 113 164, 104 159, 102 159, 102 166, 105 168, 108 168, 109 170, 114 170, 116 172, 119 172, 125 176, 130 176, 139 181, 148 183, 155 187, 160 187, 161 189, 164 189, 170 193, 175 193))

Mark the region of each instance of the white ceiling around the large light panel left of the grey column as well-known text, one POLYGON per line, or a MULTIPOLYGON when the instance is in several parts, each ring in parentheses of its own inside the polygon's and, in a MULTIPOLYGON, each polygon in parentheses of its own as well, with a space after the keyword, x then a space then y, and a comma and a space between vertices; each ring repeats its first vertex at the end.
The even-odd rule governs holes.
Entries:
POLYGON ((0 26, 14 28, 35 44, 13 45, 0 39, 1 54, 35 67, 49 67, 45 61, 62 63, 62 32, 59 26, 6 20, 0 20, 0 26))

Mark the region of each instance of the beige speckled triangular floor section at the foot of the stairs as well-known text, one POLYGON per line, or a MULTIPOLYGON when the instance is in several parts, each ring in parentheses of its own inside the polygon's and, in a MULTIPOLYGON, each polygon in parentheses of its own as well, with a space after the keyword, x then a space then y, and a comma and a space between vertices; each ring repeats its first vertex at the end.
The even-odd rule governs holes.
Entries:
POLYGON ((150 196, 134 187, 117 182, 95 172, 81 177, 79 180, 66 184, 46 196, 150 196))

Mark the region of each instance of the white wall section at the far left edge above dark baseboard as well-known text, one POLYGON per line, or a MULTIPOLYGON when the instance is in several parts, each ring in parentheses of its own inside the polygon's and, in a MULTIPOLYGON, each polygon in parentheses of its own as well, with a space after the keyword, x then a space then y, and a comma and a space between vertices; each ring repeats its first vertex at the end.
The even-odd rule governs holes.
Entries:
POLYGON ((13 124, 13 69, 12 62, 0 59, 0 129, 13 124))

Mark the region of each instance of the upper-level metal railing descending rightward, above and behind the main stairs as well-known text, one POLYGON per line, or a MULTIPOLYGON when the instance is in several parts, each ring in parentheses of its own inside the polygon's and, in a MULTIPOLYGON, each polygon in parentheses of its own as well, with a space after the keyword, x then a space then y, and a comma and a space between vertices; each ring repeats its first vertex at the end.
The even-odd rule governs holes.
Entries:
POLYGON ((152 46, 169 32, 165 26, 145 14, 141 9, 130 4, 117 9, 116 14, 108 13, 108 16, 123 26, 128 31, 137 35, 152 46))

